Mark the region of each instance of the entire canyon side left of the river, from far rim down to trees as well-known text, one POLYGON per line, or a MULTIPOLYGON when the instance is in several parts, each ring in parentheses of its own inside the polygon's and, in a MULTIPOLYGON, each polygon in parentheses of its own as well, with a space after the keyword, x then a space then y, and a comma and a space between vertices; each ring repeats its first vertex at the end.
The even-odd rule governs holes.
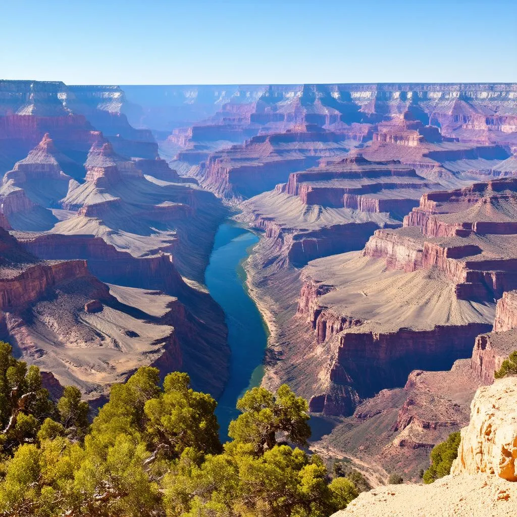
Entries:
POLYGON ((4 339, 88 399, 141 364, 221 393, 224 314, 197 282, 224 209, 158 158, 120 88, 0 92, 0 225, 19 239, 3 266, 4 339))

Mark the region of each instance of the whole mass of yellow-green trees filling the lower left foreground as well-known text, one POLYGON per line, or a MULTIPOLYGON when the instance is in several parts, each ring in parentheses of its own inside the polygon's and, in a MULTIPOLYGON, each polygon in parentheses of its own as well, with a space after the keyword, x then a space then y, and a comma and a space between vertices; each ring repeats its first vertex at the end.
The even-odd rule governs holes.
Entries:
POLYGON ((359 493, 287 445, 306 445, 310 428, 285 385, 248 391, 224 446, 215 400, 185 373, 160 387, 140 368, 89 425, 77 388, 54 404, 37 368, 0 343, 0 397, 2 517, 326 517, 359 493))

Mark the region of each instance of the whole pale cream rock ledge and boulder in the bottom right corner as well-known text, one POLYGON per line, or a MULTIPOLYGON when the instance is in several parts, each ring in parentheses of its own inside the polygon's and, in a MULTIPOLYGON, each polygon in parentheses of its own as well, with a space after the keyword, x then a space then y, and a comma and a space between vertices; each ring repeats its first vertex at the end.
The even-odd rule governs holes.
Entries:
POLYGON ((364 492, 336 517, 505 515, 517 508, 515 377, 480 388, 461 432, 451 474, 430 485, 402 484, 364 492))

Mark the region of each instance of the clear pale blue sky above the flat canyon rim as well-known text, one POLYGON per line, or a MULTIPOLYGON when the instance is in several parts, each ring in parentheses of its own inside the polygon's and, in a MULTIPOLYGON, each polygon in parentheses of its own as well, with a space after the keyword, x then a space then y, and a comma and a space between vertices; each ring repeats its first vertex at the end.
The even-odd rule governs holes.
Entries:
POLYGON ((2 0, 0 79, 517 82, 517 0, 2 0))

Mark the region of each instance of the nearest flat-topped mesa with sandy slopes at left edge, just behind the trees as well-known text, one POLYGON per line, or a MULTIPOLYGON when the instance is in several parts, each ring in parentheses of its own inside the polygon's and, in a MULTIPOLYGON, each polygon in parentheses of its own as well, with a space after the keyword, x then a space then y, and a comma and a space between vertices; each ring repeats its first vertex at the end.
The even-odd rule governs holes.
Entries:
POLYGON ((0 247, 0 332, 23 359, 89 399, 139 361, 181 368, 174 328, 121 305, 86 261, 40 260, 4 230, 0 247))

